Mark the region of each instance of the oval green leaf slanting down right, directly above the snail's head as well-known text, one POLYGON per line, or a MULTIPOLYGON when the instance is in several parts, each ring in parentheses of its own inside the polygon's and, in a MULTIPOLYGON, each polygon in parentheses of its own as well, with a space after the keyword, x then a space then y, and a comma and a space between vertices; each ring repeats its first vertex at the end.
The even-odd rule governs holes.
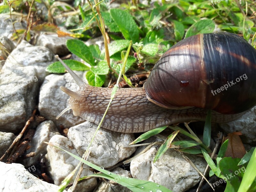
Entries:
POLYGON ((95 65, 90 48, 84 44, 83 41, 77 39, 68 39, 67 47, 70 52, 74 53, 76 56, 89 63, 91 66, 95 65))

